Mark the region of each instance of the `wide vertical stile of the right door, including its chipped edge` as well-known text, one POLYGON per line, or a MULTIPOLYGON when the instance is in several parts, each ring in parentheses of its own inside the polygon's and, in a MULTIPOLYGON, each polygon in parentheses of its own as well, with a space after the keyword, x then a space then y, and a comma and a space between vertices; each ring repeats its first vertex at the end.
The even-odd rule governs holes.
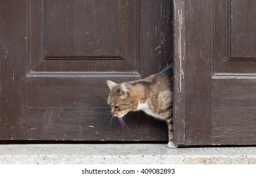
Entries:
POLYGON ((174 1, 174 142, 211 142, 212 1, 174 1))

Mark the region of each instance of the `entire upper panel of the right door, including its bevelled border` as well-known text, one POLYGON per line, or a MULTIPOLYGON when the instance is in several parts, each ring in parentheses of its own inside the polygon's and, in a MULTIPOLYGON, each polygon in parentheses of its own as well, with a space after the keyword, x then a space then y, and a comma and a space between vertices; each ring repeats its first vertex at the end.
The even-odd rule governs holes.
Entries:
POLYGON ((254 1, 215 1, 215 76, 255 73, 255 18, 254 1))

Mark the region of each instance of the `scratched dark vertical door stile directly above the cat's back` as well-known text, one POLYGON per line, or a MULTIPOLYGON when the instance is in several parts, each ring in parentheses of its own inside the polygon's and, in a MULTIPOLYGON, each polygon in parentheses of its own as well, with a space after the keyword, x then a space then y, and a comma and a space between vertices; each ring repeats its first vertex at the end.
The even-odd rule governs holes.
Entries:
POLYGON ((139 73, 144 78, 172 62, 172 1, 138 2, 139 73))

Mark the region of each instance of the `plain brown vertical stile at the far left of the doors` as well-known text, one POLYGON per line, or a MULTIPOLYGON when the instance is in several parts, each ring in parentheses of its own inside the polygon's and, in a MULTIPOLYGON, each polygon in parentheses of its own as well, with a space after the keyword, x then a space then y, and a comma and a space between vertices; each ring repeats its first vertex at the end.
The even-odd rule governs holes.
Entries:
POLYGON ((26 1, 0 1, 0 138, 25 139, 26 1))

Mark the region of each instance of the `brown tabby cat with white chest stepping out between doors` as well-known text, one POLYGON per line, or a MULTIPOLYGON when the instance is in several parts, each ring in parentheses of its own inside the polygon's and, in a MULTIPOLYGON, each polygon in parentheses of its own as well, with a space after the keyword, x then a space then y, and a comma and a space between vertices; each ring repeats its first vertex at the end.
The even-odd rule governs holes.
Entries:
POLYGON ((129 111, 144 111, 157 119, 165 120, 169 129, 169 148, 176 148, 172 133, 172 65, 160 73, 142 80, 115 83, 107 80, 110 88, 108 105, 113 116, 123 118, 129 111))

